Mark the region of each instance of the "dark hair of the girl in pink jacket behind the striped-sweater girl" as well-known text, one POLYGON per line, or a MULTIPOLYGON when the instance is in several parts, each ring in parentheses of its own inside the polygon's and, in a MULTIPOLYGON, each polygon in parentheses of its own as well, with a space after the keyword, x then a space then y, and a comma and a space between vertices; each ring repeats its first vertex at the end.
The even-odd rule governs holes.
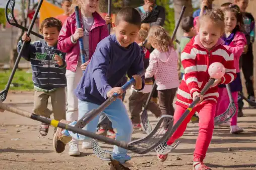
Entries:
POLYGON ((237 20, 237 26, 235 27, 235 29, 243 31, 243 16, 242 13, 240 12, 240 8, 237 5, 232 4, 224 10, 224 13, 226 11, 235 13, 235 18, 237 20))

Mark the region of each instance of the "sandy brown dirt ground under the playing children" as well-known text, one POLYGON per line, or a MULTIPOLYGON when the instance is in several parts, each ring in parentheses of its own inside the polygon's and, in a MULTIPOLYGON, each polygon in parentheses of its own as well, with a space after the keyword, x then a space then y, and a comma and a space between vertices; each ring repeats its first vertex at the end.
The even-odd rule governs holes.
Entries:
MULTIPOLYGON (((126 106, 127 98, 126 96, 126 106)), ((10 92, 5 103, 32 111, 33 92, 10 92)), ((109 169, 108 162, 97 158, 92 150, 80 149, 82 153, 78 157, 69 156, 68 147, 62 154, 55 153, 52 147, 52 127, 46 137, 41 137, 38 129, 40 122, 8 111, 1 115, 0 169, 109 169)), ((231 135, 228 127, 216 127, 205 159, 207 165, 213 169, 256 169, 255 117, 254 109, 244 109, 244 117, 238 118, 239 126, 245 130, 240 135, 231 135)), ((152 124, 157 122, 152 115, 150 121, 152 124)), ((133 169, 192 169, 197 134, 198 124, 189 123, 184 136, 180 139, 181 144, 163 163, 157 160, 155 152, 145 155, 130 153, 133 156, 130 162, 135 165, 133 169)), ((142 135, 145 133, 135 131, 133 138, 142 135)), ((110 145, 107 148, 112 149, 110 145)))

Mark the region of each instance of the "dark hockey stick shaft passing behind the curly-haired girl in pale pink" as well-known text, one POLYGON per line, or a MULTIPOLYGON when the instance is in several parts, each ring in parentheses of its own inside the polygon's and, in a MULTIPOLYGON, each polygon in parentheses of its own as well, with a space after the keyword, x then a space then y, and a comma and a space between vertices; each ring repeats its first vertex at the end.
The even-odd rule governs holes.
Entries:
MULTIPOLYGON (((185 9, 186 9, 186 6, 183 6, 182 9, 181 9, 178 22, 177 22, 177 24, 176 24, 176 26, 175 26, 175 28, 174 28, 174 30, 173 30, 172 36, 171 36, 171 42, 174 40, 174 37, 175 37, 175 35, 176 35, 176 33, 177 33, 177 30, 178 30, 178 28, 179 28, 179 24, 180 24, 180 22, 181 22, 181 19, 182 19, 184 13, 185 13, 185 9)), ((145 43, 146 43, 146 41, 145 41, 145 43)), ((154 84, 153 84, 153 86, 152 86, 152 90, 151 90, 151 92, 149 93, 149 97, 148 97, 148 99, 147 99, 147 101, 146 101, 144 110, 147 110, 148 105, 149 105, 149 102, 150 102, 150 99, 151 99, 151 97, 153 96, 153 93, 154 93, 155 89, 156 89, 156 81, 154 82, 154 84)))

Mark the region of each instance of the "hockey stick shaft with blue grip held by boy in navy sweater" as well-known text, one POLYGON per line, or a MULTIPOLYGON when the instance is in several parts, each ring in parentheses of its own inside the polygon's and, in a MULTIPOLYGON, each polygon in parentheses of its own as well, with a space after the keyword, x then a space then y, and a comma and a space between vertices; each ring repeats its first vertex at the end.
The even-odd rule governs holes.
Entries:
MULTIPOLYGON (((144 70, 139 75, 143 76, 145 74, 144 70)), ((122 87, 122 91, 126 91, 128 88, 130 88, 132 85, 135 85, 136 81, 134 78, 131 78, 129 81, 127 81, 122 87)), ((89 112, 85 113, 85 115, 77 122, 75 127, 77 128, 83 128, 86 124, 88 124, 91 120, 93 120, 97 115, 100 114, 107 106, 109 106, 120 94, 114 93, 112 97, 108 98, 104 103, 102 103, 98 108, 92 109, 89 112)))

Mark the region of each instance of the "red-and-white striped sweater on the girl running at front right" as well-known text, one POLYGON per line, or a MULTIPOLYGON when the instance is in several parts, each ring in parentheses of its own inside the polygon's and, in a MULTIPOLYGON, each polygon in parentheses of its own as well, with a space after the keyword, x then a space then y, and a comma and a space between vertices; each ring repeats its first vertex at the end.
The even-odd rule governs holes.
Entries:
MULTIPOLYGON (((199 41, 199 35, 193 37, 181 53, 181 64, 185 74, 177 91, 176 104, 187 107, 192 101, 192 94, 201 92, 210 79, 209 66, 214 62, 220 62, 226 68, 220 84, 228 84, 236 78, 234 68, 234 55, 223 46, 223 40, 219 39, 215 47, 208 51, 199 41)), ((217 102, 219 97, 218 86, 212 86, 203 96, 203 102, 217 102)))

